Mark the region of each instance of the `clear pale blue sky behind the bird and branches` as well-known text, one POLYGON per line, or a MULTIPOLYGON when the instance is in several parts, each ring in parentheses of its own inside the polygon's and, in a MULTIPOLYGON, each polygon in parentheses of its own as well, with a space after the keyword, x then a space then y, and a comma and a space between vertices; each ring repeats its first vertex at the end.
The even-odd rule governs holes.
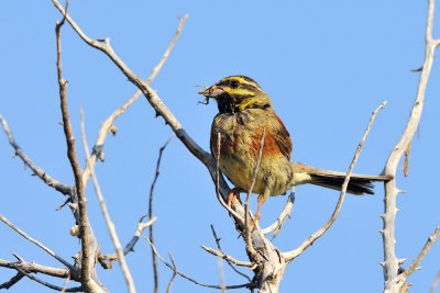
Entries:
MULTIPOLYGON (((437 1, 438 7, 440 2, 437 1)), ((427 1, 70 1, 69 14, 92 38, 111 44, 139 76, 146 78, 172 40, 177 16, 189 13, 169 59, 152 83, 189 135, 209 149, 215 103, 198 105, 196 84, 210 86, 230 75, 254 78, 271 95, 293 142, 293 160, 315 167, 346 170, 372 111, 384 100, 354 169, 378 174, 402 135, 415 100, 422 65, 427 1)), ((2 1, 0 4, 0 113, 22 149, 48 174, 66 184, 74 179, 58 122, 55 21, 52 1, 2 1)), ((439 37, 440 9, 435 36, 439 37)), ((86 113, 88 143, 95 143, 100 123, 135 91, 102 53, 86 45, 69 25, 62 32, 63 71, 81 166, 79 105, 86 113)), ((440 125, 440 63, 433 64, 420 127, 411 146, 409 177, 398 167, 400 213, 396 219, 396 253, 413 260, 440 224, 438 188, 440 125)), ((172 135, 162 117, 140 98, 117 122, 118 135, 107 139, 106 162, 96 171, 119 237, 127 244, 139 218, 146 214, 158 148, 172 135)), ((13 158, 0 134, 0 213, 54 251, 70 259, 80 249, 69 235, 74 218, 65 201, 13 158)), ((155 189, 155 240, 178 270, 194 279, 218 284, 217 259, 200 246, 216 247, 213 224, 226 252, 248 260, 228 213, 220 206, 206 168, 173 139, 164 153, 155 189)), ((346 196, 330 230, 293 261, 280 292, 381 292, 383 271, 383 185, 374 196, 346 196)), ((292 250, 330 217, 339 192, 299 187, 292 218, 274 244, 292 250)), ((88 214, 106 253, 113 252, 91 184, 87 188, 88 214)), ((256 196, 251 209, 255 211, 256 196)), ((286 198, 268 199, 262 226, 272 224, 286 198)), ((47 253, 8 226, 0 224, 0 258, 62 267, 47 253)), ((140 240, 128 262, 139 292, 151 292, 151 250, 140 240)), ((409 262, 408 261, 408 262, 409 262)), ((404 267, 407 267, 406 263, 404 267)), ((422 270, 409 281, 411 292, 428 292, 440 270, 440 243, 435 244, 422 270)), ((161 292, 172 271, 158 263, 161 292)), ((245 280, 226 268, 227 284, 245 280)), ((244 270, 244 272, 246 272, 244 270)), ((0 268, 0 283, 15 272, 0 268)), ((119 266, 98 270, 111 292, 125 292, 119 266)), ((251 273, 251 272, 246 272, 251 273)), ((40 275, 42 277, 42 275, 40 275)), ((42 277, 47 280, 47 278, 42 277)), ((63 280, 51 280, 63 285, 63 280)), ((74 285, 72 282, 69 285, 74 285)), ((11 292, 52 292, 22 280, 11 292)), ((208 292, 176 278, 172 292, 208 292)), ((239 290, 238 292, 245 292, 239 290)))

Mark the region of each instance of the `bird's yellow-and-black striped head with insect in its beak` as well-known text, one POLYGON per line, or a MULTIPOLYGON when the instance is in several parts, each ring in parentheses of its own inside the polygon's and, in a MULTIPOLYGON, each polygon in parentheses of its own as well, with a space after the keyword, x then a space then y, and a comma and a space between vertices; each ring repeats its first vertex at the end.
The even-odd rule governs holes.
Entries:
POLYGON ((245 76, 226 77, 210 88, 199 91, 217 101, 220 113, 238 113, 245 109, 272 109, 268 95, 255 80, 245 76))

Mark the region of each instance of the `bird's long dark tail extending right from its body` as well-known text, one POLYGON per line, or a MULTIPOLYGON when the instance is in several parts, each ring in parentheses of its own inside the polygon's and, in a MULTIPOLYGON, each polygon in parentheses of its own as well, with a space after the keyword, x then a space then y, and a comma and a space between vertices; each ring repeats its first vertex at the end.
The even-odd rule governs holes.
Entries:
MULTIPOLYGON (((294 179, 292 185, 311 183, 329 189, 341 190, 345 173, 314 168, 301 162, 293 162, 294 179)), ((362 195, 374 194, 373 181, 388 181, 392 176, 351 174, 346 192, 362 195)))

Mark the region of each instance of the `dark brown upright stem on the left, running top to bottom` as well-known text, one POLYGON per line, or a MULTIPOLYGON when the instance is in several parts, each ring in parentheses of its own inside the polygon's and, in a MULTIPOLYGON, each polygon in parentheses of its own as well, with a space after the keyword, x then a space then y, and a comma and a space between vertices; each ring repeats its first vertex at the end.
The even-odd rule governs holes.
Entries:
POLYGON ((92 288, 90 284, 90 250, 89 250, 89 237, 87 232, 88 217, 86 211, 86 196, 84 194, 84 185, 81 180, 81 168, 78 164, 78 158, 75 149, 75 137, 72 132, 70 119, 67 108, 67 80, 63 79, 62 74, 62 41, 61 41, 61 29, 66 21, 68 8, 68 0, 66 1, 66 9, 62 22, 57 22, 55 26, 56 33, 56 69, 58 76, 59 86, 59 99, 61 109, 63 113, 63 128, 66 136, 67 143, 67 157, 69 159, 72 170, 75 177, 75 192, 78 196, 78 207, 79 207, 79 235, 81 239, 81 283, 85 286, 86 292, 91 292, 92 288))

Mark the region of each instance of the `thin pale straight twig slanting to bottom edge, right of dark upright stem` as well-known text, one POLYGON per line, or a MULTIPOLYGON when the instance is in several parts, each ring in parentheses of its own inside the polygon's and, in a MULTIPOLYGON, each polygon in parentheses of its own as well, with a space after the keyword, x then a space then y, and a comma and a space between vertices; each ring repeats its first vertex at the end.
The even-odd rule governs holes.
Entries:
MULTIPOLYGON (((86 154, 86 164, 89 165, 89 162, 90 162, 89 154, 90 153, 89 153, 89 147, 87 145, 87 138, 86 138, 84 111, 82 111, 82 108, 80 108, 79 110, 80 110, 80 116, 81 116, 80 127, 81 127, 82 147, 84 147, 84 151, 86 154)), ((106 201, 103 199, 101 188, 99 187, 99 183, 98 183, 98 178, 95 174, 95 169, 91 168, 91 166, 89 166, 89 167, 90 167, 91 179, 94 181, 95 192, 98 196, 99 205, 101 206, 102 215, 103 215, 103 218, 106 219, 106 225, 109 229, 110 238, 113 243, 114 249, 117 250, 117 256, 118 256, 118 259, 119 259, 119 262, 121 266, 121 271, 125 279, 127 288, 129 289, 129 292, 134 293, 134 292, 136 292, 136 290, 134 286, 133 278, 131 277, 131 273, 130 273, 129 266, 127 264, 127 261, 125 261, 121 241, 119 240, 117 229, 114 228, 114 224, 110 218, 109 211, 107 210, 106 201)))

